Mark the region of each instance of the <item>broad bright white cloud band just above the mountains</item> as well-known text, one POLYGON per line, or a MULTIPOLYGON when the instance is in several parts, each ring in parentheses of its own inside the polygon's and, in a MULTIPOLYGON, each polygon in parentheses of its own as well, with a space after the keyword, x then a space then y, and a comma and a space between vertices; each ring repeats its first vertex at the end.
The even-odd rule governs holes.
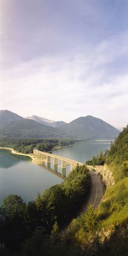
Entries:
POLYGON ((93 115, 115 126, 126 125, 128 74, 109 74, 108 68, 128 53, 127 33, 122 38, 2 70, 0 109, 63 121, 93 115))

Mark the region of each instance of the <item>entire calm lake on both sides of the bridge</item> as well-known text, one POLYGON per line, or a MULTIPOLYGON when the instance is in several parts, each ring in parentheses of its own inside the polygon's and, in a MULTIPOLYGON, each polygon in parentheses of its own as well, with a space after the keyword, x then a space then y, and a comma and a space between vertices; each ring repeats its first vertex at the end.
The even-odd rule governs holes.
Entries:
MULTIPOLYGON (((76 146, 68 146, 62 149, 55 149, 52 154, 68 157, 85 163, 93 155, 98 155, 99 150, 110 148, 110 141, 88 141, 78 143, 76 146)), ((46 165, 46 163, 44 163, 46 165)), ((53 158, 51 158, 53 169, 53 158)), ((70 167, 66 168, 66 176, 70 167)), ((61 162, 59 160, 57 172, 61 174, 61 162)), ((63 179, 44 166, 30 162, 29 157, 12 154, 9 150, 0 149, 0 204, 8 194, 18 194, 25 202, 35 200, 38 191, 43 193, 46 188, 63 179)))

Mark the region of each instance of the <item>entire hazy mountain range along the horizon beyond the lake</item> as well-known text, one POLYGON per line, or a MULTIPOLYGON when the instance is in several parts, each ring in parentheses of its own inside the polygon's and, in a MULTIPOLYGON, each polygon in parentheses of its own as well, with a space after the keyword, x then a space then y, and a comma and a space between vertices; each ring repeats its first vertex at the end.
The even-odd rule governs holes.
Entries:
POLYGON ((79 138, 84 140, 113 140, 119 130, 93 116, 77 118, 71 123, 51 121, 31 116, 22 118, 7 110, 0 112, 0 137, 7 138, 79 138))

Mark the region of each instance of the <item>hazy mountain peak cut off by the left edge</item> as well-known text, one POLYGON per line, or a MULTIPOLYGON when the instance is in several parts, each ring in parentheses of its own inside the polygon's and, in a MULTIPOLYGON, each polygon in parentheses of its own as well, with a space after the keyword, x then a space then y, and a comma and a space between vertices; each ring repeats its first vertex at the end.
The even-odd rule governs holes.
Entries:
POLYGON ((9 110, 0 110, 0 127, 9 124, 12 121, 23 120, 22 116, 18 116, 17 114, 10 112, 9 110))

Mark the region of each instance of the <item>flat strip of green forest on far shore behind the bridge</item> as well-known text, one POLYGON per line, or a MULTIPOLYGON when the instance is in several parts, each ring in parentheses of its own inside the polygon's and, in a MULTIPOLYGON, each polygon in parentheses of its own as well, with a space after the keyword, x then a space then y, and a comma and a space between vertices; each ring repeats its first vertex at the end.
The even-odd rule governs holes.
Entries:
POLYGON ((54 147, 63 147, 73 145, 79 140, 57 140, 57 139, 0 139, 0 147, 13 148, 15 151, 28 154, 33 153, 33 149, 37 148, 40 151, 48 152, 51 151, 54 147))

